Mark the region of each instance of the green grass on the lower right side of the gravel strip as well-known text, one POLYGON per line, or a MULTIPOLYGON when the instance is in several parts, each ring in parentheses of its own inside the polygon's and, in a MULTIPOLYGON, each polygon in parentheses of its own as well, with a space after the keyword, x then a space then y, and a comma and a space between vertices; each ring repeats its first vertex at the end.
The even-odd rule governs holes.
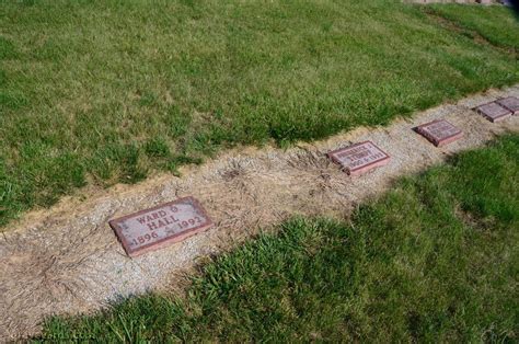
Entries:
POLYGON ((185 298, 54 318, 42 339, 515 342, 519 135, 405 177, 350 222, 297 218, 215 259, 185 298))

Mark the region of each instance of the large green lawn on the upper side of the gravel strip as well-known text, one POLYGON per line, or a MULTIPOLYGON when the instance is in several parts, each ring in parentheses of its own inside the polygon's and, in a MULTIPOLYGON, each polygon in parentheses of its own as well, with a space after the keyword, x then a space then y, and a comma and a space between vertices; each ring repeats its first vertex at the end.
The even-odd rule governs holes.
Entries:
POLYGON ((460 32, 400 1, 1 1, 0 226, 88 183, 517 82, 512 15, 468 9, 446 8, 460 32))

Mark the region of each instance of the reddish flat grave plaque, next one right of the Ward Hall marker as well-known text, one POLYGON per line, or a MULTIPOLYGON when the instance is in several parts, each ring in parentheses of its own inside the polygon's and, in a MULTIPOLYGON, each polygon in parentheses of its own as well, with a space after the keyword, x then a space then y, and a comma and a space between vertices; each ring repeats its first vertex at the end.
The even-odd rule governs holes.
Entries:
POLYGON ((337 149, 328 152, 327 156, 350 175, 359 175, 371 169, 383 167, 390 160, 390 156, 371 141, 337 149))

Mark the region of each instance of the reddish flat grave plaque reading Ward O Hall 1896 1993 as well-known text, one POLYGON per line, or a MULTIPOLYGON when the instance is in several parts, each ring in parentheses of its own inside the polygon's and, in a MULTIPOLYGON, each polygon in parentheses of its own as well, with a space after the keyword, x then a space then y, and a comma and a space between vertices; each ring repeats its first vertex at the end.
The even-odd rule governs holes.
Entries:
POLYGON ((109 221, 129 256, 182 241, 212 226, 193 197, 180 198, 109 221))

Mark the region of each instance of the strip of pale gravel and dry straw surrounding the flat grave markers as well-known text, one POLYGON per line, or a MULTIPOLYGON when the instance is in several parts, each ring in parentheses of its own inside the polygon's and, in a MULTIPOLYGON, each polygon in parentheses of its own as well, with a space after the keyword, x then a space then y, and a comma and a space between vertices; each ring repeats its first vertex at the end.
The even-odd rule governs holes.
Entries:
POLYGON ((85 200, 69 197, 51 209, 27 214, 0 236, 0 337, 35 334, 49 314, 93 311, 119 297, 182 286, 184 273, 200 257, 229 249, 260 226, 295 214, 345 217, 400 175, 481 146, 496 134, 519 131, 519 116, 492 124, 470 110, 504 95, 519 96, 519 85, 436 107, 413 121, 289 150, 233 150, 184 171, 183 177, 161 175, 117 185, 85 200), (412 130, 440 117, 459 126, 464 138, 436 148, 412 130), (392 156, 389 165, 351 179, 325 157, 328 150, 366 139, 392 156), (107 221, 186 195, 200 200, 216 226, 170 248, 127 257, 107 221))

